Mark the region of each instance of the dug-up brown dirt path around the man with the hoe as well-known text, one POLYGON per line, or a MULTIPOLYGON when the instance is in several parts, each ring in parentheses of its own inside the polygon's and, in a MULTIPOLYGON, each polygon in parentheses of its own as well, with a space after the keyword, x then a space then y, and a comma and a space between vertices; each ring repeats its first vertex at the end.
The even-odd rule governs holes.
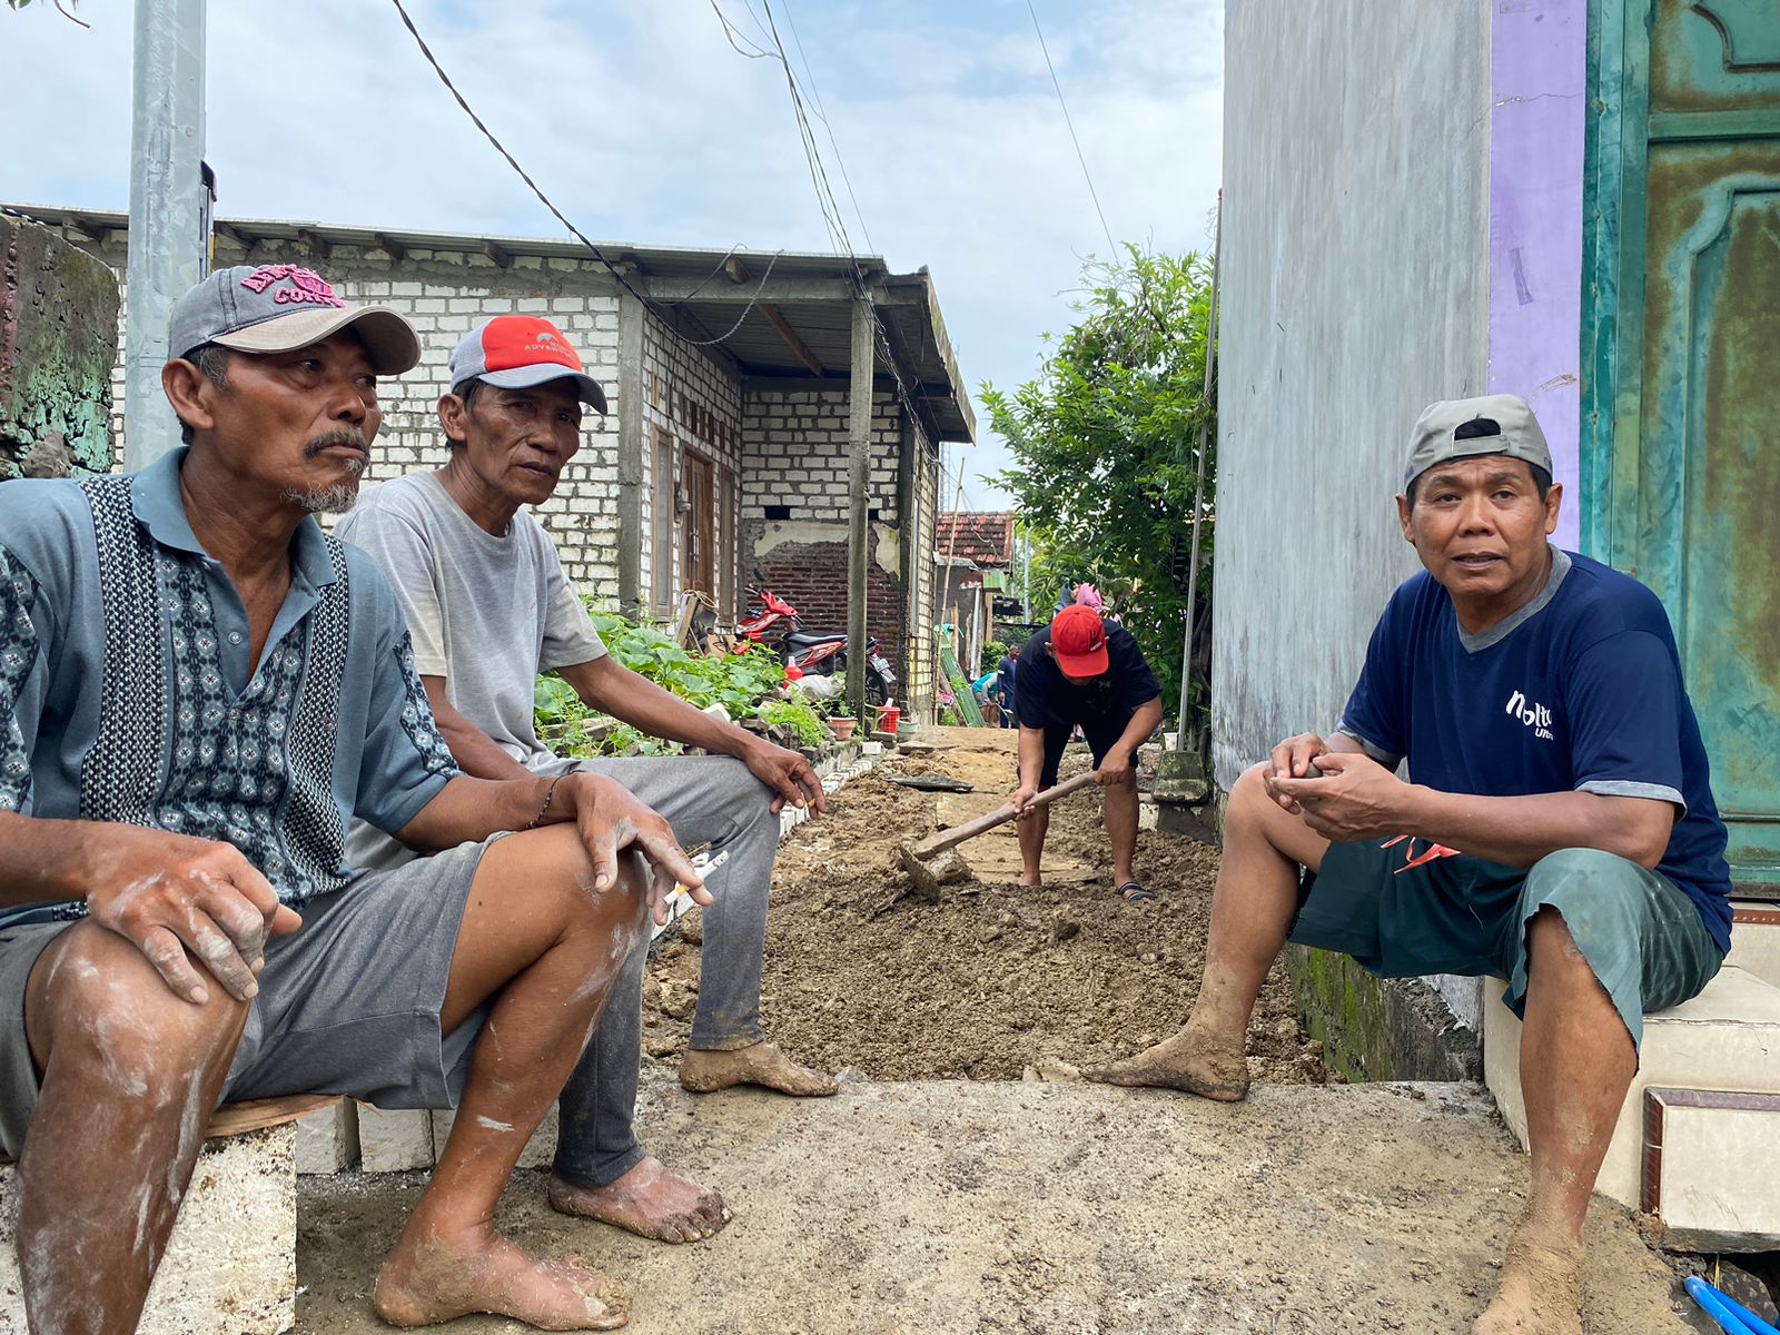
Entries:
MULTIPOLYGON (((1045 1059, 1073 1064, 1121 1056, 1173 1032, 1193 1007, 1218 853, 1145 831, 1137 876, 1150 904, 1111 892, 1111 854, 1098 792, 1052 808, 1047 886, 1015 885, 1013 826, 970 844, 977 879, 945 886, 938 904, 895 895, 897 847, 995 806, 1013 789, 1015 733, 929 730, 940 749, 897 758, 854 780, 828 817, 799 826, 780 849, 767 927, 767 1032, 819 1066, 853 1066, 876 1080, 1018 1080, 1045 1059), (936 797, 886 773, 951 774, 975 785, 936 797)), ((1064 776, 1088 765, 1086 749, 1064 776)), ((653 961, 644 1047, 671 1064, 685 1048, 698 999, 698 922, 653 961)), ((1323 1082, 1317 1047, 1292 1013, 1283 970, 1262 991, 1250 1029, 1260 1080, 1323 1082)))

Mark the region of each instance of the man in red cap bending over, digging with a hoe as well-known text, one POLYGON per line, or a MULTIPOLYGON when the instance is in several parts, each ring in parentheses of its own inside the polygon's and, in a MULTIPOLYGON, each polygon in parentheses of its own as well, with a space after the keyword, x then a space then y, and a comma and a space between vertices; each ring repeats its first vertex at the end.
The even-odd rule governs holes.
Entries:
POLYGON ((1132 874, 1137 851, 1137 748, 1162 723, 1162 687, 1129 630, 1093 607, 1064 607, 1020 651, 1015 675, 1020 719, 1020 885, 1043 883, 1050 808, 1025 805, 1057 781, 1063 748, 1075 728, 1088 739, 1102 789, 1102 819, 1112 846, 1112 886, 1121 901, 1155 899, 1132 874))

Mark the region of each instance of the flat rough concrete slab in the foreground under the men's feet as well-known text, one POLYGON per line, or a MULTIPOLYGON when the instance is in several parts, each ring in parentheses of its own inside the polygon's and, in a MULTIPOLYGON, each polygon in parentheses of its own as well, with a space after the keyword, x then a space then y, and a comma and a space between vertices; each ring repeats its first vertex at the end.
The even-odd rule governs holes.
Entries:
MULTIPOLYGON (((500 1226, 635 1296, 637 1335, 1463 1330, 1524 1161, 1479 1086, 1260 1086, 1241 1105, 1082 1084, 646 1086, 650 1148, 735 1221, 659 1246, 520 1175, 500 1226)), ((306 1178, 297 1330, 379 1331, 376 1267, 422 1180, 306 1178)), ((1682 1331, 1670 1271, 1597 1202, 1588 1328, 1682 1331)), ((468 1319, 466 1335, 514 1330, 468 1319)))

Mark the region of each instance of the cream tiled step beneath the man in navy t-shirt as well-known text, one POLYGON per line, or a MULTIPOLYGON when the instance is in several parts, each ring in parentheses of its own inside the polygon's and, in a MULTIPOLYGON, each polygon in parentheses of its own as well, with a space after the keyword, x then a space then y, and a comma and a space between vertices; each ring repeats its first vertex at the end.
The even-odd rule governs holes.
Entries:
MULTIPOLYGON (((1527 1143, 1520 1022, 1485 990, 1483 1073, 1527 1143)), ((1595 1189, 1661 1221, 1666 1241, 1712 1251, 1780 1246, 1780 986, 1725 965, 1705 990, 1645 1016, 1638 1075, 1595 1189)))

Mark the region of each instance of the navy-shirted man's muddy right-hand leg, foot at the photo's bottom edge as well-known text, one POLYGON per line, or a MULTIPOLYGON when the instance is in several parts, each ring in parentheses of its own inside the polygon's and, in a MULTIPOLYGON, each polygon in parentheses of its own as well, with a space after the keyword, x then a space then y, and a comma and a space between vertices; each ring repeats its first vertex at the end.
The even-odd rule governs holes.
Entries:
POLYGON ((1527 956, 1520 1032, 1533 1152, 1527 1207, 1472 1335, 1581 1335, 1582 1221, 1638 1070, 1620 1013, 1556 910, 1541 910, 1527 926, 1527 956))

